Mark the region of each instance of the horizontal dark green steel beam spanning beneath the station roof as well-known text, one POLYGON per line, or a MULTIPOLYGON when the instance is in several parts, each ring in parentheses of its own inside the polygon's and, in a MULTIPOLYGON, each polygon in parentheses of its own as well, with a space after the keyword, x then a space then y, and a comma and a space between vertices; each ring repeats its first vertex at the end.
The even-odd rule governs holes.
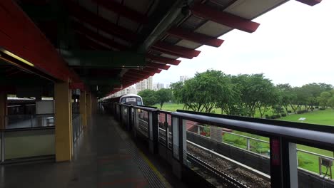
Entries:
POLYGON ((62 56, 69 66, 83 68, 140 68, 146 66, 145 55, 116 51, 66 51, 62 56))

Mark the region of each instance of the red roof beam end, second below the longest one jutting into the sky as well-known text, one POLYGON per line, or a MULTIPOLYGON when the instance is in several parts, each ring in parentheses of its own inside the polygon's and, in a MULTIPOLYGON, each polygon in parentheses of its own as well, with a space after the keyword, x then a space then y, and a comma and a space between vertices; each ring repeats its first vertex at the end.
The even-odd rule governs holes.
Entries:
POLYGON ((191 48, 185 48, 182 46, 171 45, 164 42, 157 42, 153 45, 153 49, 160 51, 161 53, 168 53, 173 56, 181 56, 183 58, 197 57, 201 51, 196 51, 191 48))

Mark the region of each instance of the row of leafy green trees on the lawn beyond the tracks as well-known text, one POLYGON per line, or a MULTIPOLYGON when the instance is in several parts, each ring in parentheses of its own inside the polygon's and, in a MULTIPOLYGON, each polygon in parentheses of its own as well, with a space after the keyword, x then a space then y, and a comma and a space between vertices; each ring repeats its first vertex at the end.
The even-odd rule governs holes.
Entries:
POLYGON ((289 84, 274 85, 263 74, 226 75, 221 71, 208 70, 196 73, 186 82, 171 84, 173 100, 183 103, 184 108, 197 112, 211 113, 221 108, 221 113, 260 117, 271 108, 280 115, 288 115, 289 108, 297 113, 313 106, 334 106, 334 89, 325 83, 309 83, 301 87, 289 84), (285 112, 284 112, 285 110, 285 112))

